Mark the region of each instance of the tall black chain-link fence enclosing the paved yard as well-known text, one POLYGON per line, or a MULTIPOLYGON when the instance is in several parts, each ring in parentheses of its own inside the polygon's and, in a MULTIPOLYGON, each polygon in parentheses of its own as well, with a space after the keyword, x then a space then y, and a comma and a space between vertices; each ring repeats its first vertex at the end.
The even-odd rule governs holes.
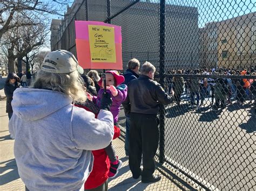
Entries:
MULTIPOLYGON (((256 3, 75 2, 52 49, 76 54, 75 20, 122 26, 124 69, 132 58, 150 61, 174 90, 159 112, 158 160, 205 189, 256 189, 256 3)), ((123 111, 119 123, 125 133, 123 111)))

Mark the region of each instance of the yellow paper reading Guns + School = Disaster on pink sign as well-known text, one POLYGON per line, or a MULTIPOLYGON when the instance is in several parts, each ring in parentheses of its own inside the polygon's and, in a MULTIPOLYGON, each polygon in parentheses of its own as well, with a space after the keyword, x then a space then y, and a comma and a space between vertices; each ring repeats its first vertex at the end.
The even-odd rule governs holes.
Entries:
POLYGON ((114 27, 88 25, 91 62, 116 62, 114 27))

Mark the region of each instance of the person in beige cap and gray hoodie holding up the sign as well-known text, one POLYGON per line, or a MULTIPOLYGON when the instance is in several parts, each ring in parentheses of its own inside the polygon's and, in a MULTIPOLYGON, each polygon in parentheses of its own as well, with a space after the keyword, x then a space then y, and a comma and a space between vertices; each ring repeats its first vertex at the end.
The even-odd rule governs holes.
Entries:
POLYGON ((9 130, 26 190, 83 190, 92 170, 91 150, 113 138, 112 100, 104 94, 98 119, 75 107, 86 94, 83 68, 65 50, 48 53, 31 88, 14 92, 9 130))

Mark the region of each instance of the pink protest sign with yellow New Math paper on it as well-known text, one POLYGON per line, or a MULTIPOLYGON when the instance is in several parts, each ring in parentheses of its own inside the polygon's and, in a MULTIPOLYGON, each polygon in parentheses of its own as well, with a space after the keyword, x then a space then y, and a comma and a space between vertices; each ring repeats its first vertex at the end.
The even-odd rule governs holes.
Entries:
POLYGON ((77 20, 75 26, 80 66, 84 69, 123 69, 120 26, 77 20))

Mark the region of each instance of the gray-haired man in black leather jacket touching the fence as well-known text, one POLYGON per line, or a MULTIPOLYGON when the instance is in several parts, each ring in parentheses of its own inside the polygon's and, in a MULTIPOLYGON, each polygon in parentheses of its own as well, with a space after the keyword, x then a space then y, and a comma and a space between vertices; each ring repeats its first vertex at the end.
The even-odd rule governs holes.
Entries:
POLYGON ((128 86, 128 95, 123 103, 127 112, 130 112, 130 150, 129 166, 132 177, 138 179, 142 175, 142 182, 157 182, 160 176, 153 175, 155 170, 154 155, 159 140, 159 119, 157 113, 160 104, 170 104, 171 96, 164 92, 159 83, 153 81, 156 68, 145 62, 138 79, 132 80, 128 86), (143 171, 140 162, 143 154, 143 171))

